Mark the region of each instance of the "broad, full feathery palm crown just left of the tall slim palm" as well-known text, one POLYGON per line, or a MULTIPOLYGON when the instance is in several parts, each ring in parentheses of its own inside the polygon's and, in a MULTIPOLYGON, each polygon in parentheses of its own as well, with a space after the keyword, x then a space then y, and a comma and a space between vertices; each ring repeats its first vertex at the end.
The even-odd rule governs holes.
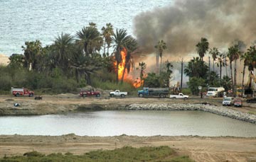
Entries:
POLYGON ((99 45, 102 45, 102 37, 95 23, 90 23, 88 27, 82 28, 81 31, 76 33, 76 37, 78 38, 78 45, 83 47, 85 56, 87 57, 89 57, 89 54, 92 54, 92 52, 95 52, 99 45))

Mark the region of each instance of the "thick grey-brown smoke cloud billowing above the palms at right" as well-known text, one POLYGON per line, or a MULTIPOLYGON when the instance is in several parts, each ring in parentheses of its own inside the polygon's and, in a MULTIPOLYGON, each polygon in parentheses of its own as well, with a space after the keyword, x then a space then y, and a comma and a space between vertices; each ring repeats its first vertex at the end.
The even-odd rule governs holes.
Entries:
POLYGON ((196 53, 201 37, 220 50, 238 40, 248 47, 256 40, 255 6, 256 0, 176 0, 136 16, 134 35, 143 53, 164 40, 169 57, 196 53))

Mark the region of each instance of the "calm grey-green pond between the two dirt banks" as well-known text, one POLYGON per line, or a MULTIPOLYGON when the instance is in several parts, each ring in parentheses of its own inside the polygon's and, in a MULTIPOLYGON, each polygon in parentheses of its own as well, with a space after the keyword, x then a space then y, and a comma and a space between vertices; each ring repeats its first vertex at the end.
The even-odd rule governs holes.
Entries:
POLYGON ((256 137, 256 125, 200 111, 93 111, 0 117, 0 134, 256 137))

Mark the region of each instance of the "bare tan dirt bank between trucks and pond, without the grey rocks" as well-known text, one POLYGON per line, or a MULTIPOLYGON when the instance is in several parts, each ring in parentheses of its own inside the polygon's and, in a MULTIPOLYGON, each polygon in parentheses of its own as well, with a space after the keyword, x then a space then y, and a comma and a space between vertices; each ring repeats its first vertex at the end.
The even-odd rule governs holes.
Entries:
MULTIPOLYGON (((74 94, 60 94, 56 96, 42 96, 43 100, 29 97, 0 96, 0 115, 47 115, 69 112, 74 110, 108 110, 120 109, 132 103, 161 104, 161 103, 203 103, 221 106, 222 98, 190 98, 176 100, 170 98, 110 98, 87 97, 81 98, 74 94), (18 103, 19 106, 14 106, 18 103)), ((243 103, 242 108, 226 107, 240 112, 255 112, 256 104, 243 103)))

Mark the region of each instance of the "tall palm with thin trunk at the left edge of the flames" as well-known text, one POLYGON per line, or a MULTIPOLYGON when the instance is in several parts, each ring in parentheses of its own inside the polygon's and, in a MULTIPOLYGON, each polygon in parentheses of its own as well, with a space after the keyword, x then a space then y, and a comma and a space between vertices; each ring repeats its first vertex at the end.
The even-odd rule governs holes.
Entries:
POLYGON ((127 46, 127 42, 129 42, 130 35, 127 35, 127 30, 124 29, 117 29, 116 33, 114 33, 112 37, 112 41, 114 42, 114 59, 116 60, 117 64, 117 77, 116 81, 118 83, 118 67, 120 62, 122 62, 122 55, 121 51, 127 46))

